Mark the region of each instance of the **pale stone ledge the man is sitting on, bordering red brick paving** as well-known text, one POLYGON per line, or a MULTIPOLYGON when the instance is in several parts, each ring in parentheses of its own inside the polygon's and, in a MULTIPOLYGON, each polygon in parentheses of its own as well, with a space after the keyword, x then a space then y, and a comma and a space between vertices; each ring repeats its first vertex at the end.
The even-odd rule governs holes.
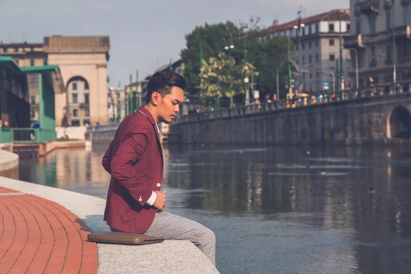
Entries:
MULTIPOLYGON (((49 199, 82 219, 91 232, 109 232, 105 199, 0 177, 0 186, 49 199)), ((98 273, 219 273, 189 241, 166 240, 145 246, 98 244, 98 273), (143 259, 144 258, 144 259, 143 259)))

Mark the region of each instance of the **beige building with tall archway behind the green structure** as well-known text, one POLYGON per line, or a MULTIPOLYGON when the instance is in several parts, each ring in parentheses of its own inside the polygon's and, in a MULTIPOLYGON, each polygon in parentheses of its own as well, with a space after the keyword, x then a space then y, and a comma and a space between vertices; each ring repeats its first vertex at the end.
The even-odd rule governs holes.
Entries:
MULTIPOLYGON (((77 126, 108 121, 108 36, 49 36, 43 43, 0 44, 0 55, 19 66, 58 65, 66 92, 55 95, 57 126, 77 126)), ((38 89, 35 74, 27 73, 32 123, 38 122, 38 89)))

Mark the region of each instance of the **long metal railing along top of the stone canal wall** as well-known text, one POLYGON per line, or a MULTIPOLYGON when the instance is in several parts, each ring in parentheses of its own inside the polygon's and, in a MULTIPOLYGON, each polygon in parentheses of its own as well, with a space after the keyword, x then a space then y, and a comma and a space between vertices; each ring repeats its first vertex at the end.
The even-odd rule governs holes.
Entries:
POLYGON ((236 108, 226 108, 214 110, 212 112, 200 112, 177 116, 173 124, 204 121, 209 119, 242 116, 247 114, 257 114, 261 112, 271 112, 275 110, 287 110, 292 108, 301 108, 308 105, 320 105, 326 103, 336 103, 338 101, 352 101, 363 98, 379 97, 386 95, 395 95, 404 92, 411 92, 411 81, 397 82, 394 88, 393 83, 378 84, 367 88, 351 88, 347 90, 338 90, 336 92, 321 92, 310 94, 308 97, 297 97, 292 99, 282 99, 272 101, 271 103, 253 103, 247 106, 236 108))

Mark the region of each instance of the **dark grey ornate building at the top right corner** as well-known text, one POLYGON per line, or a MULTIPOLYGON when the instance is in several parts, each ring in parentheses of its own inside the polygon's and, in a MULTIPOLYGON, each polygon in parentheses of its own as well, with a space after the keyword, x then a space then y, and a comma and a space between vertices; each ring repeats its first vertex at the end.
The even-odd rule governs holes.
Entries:
POLYGON ((411 79, 410 2, 350 1, 352 27, 345 47, 352 50, 353 64, 358 54, 360 87, 411 79))

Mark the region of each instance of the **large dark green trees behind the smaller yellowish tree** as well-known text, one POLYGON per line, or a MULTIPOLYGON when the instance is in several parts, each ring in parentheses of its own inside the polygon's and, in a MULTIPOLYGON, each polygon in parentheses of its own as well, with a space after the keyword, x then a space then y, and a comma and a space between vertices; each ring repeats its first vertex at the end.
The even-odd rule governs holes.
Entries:
MULTIPOLYGON (((284 97, 286 83, 284 77, 281 76, 286 71, 287 40, 281 36, 262 38, 264 32, 266 29, 260 26, 259 18, 251 18, 248 24, 242 23, 241 25, 234 25, 234 23, 227 21, 226 23, 195 27, 190 34, 186 35, 186 49, 181 52, 189 96, 199 99, 201 51, 203 60, 209 61, 212 57, 217 58, 232 40, 234 49, 231 49, 231 55, 235 64, 243 64, 245 58, 244 42, 246 42, 247 61, 256 66, 258 71, 258 78, 255 80, 260 95, 264 96, 276 92, 278 69, 280 73, 280 97, 284 97)), ((240 79, 244 79, 244 75, 240 79)), ((239 92, 240 90, 236 93, 239 92)))

